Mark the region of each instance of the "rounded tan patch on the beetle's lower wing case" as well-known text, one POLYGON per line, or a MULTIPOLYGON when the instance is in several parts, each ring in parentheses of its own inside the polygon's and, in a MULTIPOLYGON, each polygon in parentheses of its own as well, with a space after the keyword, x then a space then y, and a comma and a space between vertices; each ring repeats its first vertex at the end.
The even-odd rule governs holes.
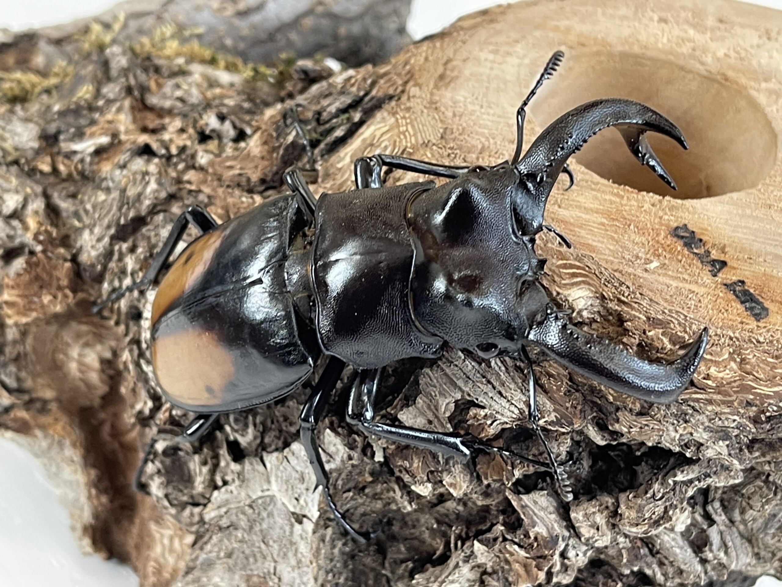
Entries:
POLYGON ((208 330, 183 330, 152 342, 152 366, 174 404, 196 406, 223 402, 234 378, 231 351, 208 330))

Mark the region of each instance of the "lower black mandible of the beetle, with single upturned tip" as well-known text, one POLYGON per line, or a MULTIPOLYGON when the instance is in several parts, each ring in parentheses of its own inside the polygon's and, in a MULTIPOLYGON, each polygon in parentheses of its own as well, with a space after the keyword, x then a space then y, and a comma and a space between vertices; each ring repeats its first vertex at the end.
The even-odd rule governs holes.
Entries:
POLYGON ((687 352, 671 363, 634 357, 608 340, 578 330, 551 306, 527 339, 591 380, 634 398, 669 404, 684 391, 698 369, 708 343, 708 329, 701 330, 687 352))

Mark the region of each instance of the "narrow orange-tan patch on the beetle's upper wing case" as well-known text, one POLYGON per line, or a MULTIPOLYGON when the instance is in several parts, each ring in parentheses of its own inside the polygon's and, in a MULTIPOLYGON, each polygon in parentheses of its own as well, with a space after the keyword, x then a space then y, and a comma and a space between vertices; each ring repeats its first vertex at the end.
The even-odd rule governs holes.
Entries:
POLYGON ((217 229, 200 236, 177 257, 174 265, 171 265, 160 283, 157 294, 155 294, 155 301, 152 302, 152 324, 160 319, 160 316, 166 312, 174 300, 195 285, 195 282, 212 263, 212 258, 217 247, 220 247, 224 234, 223 231, 217 229))

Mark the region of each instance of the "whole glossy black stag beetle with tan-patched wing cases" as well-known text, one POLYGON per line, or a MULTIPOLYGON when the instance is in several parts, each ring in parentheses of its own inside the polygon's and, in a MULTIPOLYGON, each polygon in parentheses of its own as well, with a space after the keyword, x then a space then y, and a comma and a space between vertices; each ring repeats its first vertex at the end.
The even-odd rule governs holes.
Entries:
POLYGON ((197 414, 181 438, 199 438, 222 412, 292 393, 325 362, 301 412, 301 440, 335 519, 363 541, 368 535, 353 529, 332 500, 314 434, 347 365, 353 367, 347 421, 364 433, 465 461, 477 451, 521 459, 551 471, 564 499, 572 492, 540 429, 527 345, 616 391, 649 402, 676 400, 701 361, 707 329, 675 362, 647 362, 569 324, 539 282, 546 260, 535 254, 536 235, 554 230, 543 224, 547 198, 562 172, 572 185, 567 160, 592 135, 617 128, 637 160, 674 189, 645 134, 661 133, 687 149, 662 114, 612 98, 563 114, 522 157, 526 106, 562 58, 551 56, 519 106, 510 161, 468 167, 361 157, 356 189, 320 198, 292 167, 285 173, 291 193, 222 225, 197 206, 181 214, 142 279, 95 308, 154 283, 188 224, 202 233, 171 265, 152 304, 156 378, 167 400, 197 414), (383 167, 450 181, 384 186, 383 167), (548 462, 459 434, 375 421, 382 368, 436 358, 445 344, 526 362, 529 421, 548 462))

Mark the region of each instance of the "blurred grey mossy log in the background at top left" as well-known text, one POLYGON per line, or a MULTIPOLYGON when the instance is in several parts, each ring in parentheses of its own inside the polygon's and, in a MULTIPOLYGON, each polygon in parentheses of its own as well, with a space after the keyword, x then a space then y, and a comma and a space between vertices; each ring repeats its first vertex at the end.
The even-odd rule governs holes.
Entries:
POLYGON ((125 23, 117 41, 135 41, 174 23, 199 31, 199 40, 256 63, 282 52, 317 53, 352 66, 382 63, 410 41, 405 31, 410 0, 126 0, 95 19, 45 27, 34 34, 0 29, 0 42, 38 44, 48 58, 59 44, 81 34, 85 23, 125 23))

